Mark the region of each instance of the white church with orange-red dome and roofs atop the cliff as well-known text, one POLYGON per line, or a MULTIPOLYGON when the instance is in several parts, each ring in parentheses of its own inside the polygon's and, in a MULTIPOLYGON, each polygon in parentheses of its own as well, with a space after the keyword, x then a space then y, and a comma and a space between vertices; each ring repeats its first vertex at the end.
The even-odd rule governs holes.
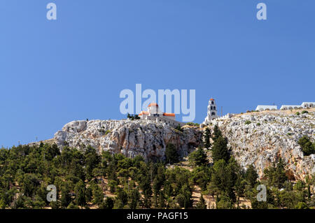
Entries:
POLYGON ((150 103, 148 110, 143 110, 139 114, 141 120, 155 120, 156 122, 165 122, 172 126, 183 125, 182 122, 175 120, 174 113, 162 113, 157 103, 150 103))

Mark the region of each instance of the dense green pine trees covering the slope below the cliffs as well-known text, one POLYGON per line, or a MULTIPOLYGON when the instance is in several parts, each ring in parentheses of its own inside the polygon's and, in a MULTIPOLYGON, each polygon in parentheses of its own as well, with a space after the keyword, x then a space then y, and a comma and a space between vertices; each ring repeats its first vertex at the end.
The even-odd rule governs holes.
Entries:
POLYGON ((253 166, 243 171, 228 149, 228 140, 214 127, 204 134, 205 148, 190 153, 190 168, 179 167, 175 145, 168 144, 165 162, 145 162, 122 154, 56 145, 20 145, 0 150, 0 208, 253 208, 314 207, 314 176, 293 183, 279 159, 258 181, 253 166), (210 141, 211 138, 211 141, 210 141), (169 164, 174 164, 170 166, 169 164), (257 201, 257 186, 267 186, 267 201, 257 201), (57 201, 46 199, 48 185, 57 201), (198 201, 193 192, 200 189, 198 201))

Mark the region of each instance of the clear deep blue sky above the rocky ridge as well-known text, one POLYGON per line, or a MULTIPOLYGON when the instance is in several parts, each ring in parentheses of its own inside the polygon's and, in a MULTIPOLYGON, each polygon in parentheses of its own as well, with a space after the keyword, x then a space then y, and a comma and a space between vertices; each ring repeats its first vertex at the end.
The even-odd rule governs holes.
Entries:
POLYGON ((119 94, 136 83, 195 89, 198 123, 210 97, 223 113, 315 101, 314 12, 314 0, 1 0, 0 147, 125 118, 119 94))

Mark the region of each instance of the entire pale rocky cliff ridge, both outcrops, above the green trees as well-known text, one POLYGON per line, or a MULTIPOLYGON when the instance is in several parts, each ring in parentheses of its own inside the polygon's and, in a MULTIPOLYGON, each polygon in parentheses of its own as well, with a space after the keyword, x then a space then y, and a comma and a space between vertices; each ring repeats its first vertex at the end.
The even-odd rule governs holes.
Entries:
MULTIPOLYGON (((288 175, 302 179, 315 173, 315 154, 304 156, 297 144, 305 135, 315 140, 314 111, 311 108, 309 113, 300 115, 295 110, 245 113, 218 118, 209 127, 218 124, 239 164, 244 168, 253 164, 260 177, 267 166, 282 157, 288 175)), ((181 157, 200 145, 204 129, 185 126, 182 130, 147 120, 73 121, 57 131, 53 141, 59 148, 91 145, 99 152, 122 153, 128 157, 140 154, 146 160, 155 160, 164 159, 167 143, 176 145, 181 157)))

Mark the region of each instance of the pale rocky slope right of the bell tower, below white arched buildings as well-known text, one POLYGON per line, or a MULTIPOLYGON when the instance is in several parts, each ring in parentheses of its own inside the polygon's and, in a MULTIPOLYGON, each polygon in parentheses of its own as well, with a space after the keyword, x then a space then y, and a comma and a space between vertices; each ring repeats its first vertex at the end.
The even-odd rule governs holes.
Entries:
POLYGON ((315 155, 304 156, 297 143, 302 136, 309 136, 314 141, 314 113, 246 113, 214 120, 210 128, 215 124, 228 138, 232 154, 239 164, 245 169, 253 164, 260 177, 263 170, 279 157, 287 164, 287 173, 295 179, 304 179, 306 175, 315 173, 315 155), (251 123, 246 124, 247 120, 251 123))

